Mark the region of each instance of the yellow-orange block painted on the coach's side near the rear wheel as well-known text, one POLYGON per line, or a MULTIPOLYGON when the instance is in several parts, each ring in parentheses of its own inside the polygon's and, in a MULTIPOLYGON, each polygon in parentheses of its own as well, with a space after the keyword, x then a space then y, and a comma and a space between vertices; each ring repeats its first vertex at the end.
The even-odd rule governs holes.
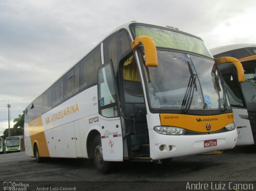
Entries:
POLYGON ((44 126, 42 122, 42 116, 32 120, 28 123, 28 130, 30 134, 30 141, 32 147, 34 146, 34 142, 37 142, 39 156, 41 157, 50 157, 50 153, 48 150, 46 137, 44 134, 44 126))

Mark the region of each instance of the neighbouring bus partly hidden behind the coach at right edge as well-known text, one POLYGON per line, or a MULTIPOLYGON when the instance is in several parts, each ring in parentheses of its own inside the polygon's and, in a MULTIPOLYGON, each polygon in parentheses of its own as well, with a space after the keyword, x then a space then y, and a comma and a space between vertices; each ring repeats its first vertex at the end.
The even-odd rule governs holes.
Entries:
MULTIPOLYGON (((230 45, 229 47, 237 48, 238 46, 230 45)), ((234 112, 236 129, 238 131, 237 145, 250 145, 256 143, 256 55, 253 55, 256 52, 256 46, 245 44, 243 47, 245 50, 248 50, 248 53, 252 54, 252 56, 239 59, 244 69, 244 83, 238 82, 237 71, 234 65, 225 63, 219 65, 218 68, 224 78, 230 104, 234 112)), ((225 50, 221 47, 214 48, 214 51, 210 49, 215 58, 218 55, 237 56, 239 55, 237 50, 241 49, 235 49, 234 53, 236 55, 234 55, 232 50, 222 54, 220 51, 225 50), (214 55, 214 53, 217 55, 214 55)))

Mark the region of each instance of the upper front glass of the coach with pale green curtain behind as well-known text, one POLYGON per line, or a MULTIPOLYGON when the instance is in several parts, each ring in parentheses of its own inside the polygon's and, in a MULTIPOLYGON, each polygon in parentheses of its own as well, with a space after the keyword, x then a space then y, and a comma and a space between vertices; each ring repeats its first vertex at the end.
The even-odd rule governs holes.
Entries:
POLYGON ((212 58, 212 55, 204 45, 204 42, 195 36, 150 26, 136 25, 132 26, 131 30, 135 37, 141 35, 151 37, 157 47, 190 51, 212 58))

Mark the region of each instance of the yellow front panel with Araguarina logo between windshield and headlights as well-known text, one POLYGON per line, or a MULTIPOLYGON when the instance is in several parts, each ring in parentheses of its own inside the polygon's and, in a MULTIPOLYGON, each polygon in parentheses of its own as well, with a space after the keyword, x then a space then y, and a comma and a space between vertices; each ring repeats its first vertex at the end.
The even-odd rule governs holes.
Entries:
POLYGON ((160 114, 160 121, 162 126, 175 126, 194 132, 209 133, 218 131, 226 125, 234 122, 234 117, 233 113, 213 116, 160 114), (208 129, 206 128, 206 125, 208 125, 208 129))

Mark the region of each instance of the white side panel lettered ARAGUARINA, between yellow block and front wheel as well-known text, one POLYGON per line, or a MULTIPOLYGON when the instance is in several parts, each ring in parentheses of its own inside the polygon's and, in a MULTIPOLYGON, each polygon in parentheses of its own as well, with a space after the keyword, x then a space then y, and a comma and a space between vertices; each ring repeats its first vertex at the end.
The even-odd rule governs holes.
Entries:
POLYGON ((93 104, 94 97, 98 97, 97 86, 82 91, 42 115, 50 157, 88 158, 86 152, 88 131, 92 126, 99 127, 98 122, 89 124, 88 121, 91 116, 96 115, 98 112, 98 105, 93 104), (79 111, 52 121, 54 114, 65 110, 65 108, 71 105, 76 105, 76 103, 78 104, 79 111), (47 123, 47 118, 49 118, 50 123, 47 123))

